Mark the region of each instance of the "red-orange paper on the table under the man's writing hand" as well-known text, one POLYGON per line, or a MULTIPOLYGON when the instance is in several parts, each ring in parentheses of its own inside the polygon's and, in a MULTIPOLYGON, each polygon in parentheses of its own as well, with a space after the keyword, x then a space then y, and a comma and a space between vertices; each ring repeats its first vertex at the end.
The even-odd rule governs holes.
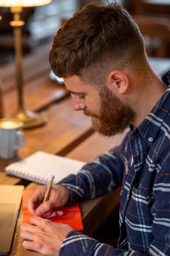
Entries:
MULTIPOLYGON (((23 192, 23 222, 24 223, 29 223, 31 219, 31 214, 28 211, 28 198, 31 196, 32 193, 33 193, 33 190, 24 190, 23 192)), ((83 229, 80 207, 77 203, 72 204, 72 206, 63 206, 57 209, 63 211, 63 215, 50 218, 52 222, 61 222, 63 224, 68 224, 74 230, 83 229)))

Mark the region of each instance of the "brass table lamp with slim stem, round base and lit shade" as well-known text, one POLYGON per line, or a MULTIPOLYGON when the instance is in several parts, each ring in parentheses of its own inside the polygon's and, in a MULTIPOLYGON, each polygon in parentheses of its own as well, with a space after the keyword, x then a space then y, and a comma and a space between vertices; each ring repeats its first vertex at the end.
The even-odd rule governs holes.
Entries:
POLYGON ((18 89, 18 109, 12 117, 23 121, 24 128, 38 127, 46 123, 44 114, 34 113, 25 110, 23 104, 23 72, 22 72, 22 45, 21 45, 21 27, 24 22, 20 19, 23 7, 37 7, 50 3, 51 0, 0 0, 0 7, 10 7, 13 14, 13 20, 10 26, 13 27, 14 43, 15 43, 15 64, 18 89))

